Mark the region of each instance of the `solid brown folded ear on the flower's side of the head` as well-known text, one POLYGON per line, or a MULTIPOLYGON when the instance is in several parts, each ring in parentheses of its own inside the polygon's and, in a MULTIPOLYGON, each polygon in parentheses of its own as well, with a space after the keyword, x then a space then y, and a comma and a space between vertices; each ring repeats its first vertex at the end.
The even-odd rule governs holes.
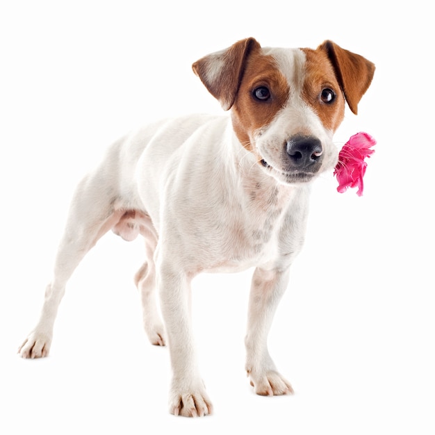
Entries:
POLYGON ((338 47, 332 41, 323 42, 318 49, 326 51, 347 104, 356 115, 358 103, 372 82, 375 65, 359 54, 338 47))

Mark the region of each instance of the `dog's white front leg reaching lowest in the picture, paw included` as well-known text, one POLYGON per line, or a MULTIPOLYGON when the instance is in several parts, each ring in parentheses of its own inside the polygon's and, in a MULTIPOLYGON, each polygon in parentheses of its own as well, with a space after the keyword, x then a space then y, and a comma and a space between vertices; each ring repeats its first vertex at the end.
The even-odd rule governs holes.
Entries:
POLYGON ((167 262, 157 264, 161 309, 172 363, 170 413, 205 416, 211 413, 212 405, 197 367, 190 315, 190 277, 167 262))

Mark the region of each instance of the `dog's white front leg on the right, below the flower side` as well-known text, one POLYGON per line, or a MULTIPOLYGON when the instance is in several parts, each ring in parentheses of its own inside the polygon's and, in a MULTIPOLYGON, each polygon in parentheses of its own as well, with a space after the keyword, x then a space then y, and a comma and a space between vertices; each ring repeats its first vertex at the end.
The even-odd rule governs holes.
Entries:
POLYGON ((268 333, 278 303, 288 284, 286 269, 256 268, 249 295, 246 370, 259 395, 293 394, 290 383, 277 371, 268 351, 268 333))

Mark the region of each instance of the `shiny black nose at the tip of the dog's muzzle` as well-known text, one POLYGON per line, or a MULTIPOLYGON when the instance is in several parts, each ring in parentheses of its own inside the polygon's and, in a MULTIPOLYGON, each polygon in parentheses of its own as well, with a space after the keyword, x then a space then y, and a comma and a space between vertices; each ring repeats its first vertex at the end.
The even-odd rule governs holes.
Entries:
POLYGON ((296 136, 286 142, 286 151, 290 158, 290 166, 305 169, 322 158, 322 142, 311 136, 296 136))

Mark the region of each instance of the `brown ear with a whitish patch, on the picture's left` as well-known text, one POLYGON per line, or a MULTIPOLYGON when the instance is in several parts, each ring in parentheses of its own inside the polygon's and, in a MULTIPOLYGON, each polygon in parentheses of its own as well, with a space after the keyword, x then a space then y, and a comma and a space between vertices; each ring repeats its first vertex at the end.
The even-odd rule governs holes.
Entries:
POLYGON ((259 48, 254 38, 247 38, 228 49, 208 54, 192 65, 195 74, 224 110, 229 110, 236 99, 247 57, 259 48))

